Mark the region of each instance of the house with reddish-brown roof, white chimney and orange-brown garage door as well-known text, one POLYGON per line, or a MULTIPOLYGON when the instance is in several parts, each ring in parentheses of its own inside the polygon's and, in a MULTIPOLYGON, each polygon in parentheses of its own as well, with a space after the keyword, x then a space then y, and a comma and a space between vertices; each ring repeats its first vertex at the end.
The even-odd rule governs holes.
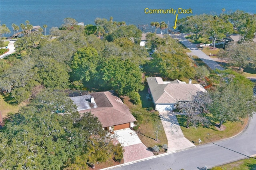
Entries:
POLYGON ((91 112, 102 123, 106 130, 133 127, 136 119, 122 100, 111 91, 90 93, 78 97, 70 97, 77 105, 79 113, 91 112))

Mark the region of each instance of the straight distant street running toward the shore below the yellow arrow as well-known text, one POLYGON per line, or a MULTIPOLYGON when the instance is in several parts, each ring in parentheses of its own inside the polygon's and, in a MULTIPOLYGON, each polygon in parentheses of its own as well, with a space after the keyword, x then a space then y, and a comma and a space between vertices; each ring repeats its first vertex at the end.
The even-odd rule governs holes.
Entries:
POLYGON ((186 34, 180 34, 178 36, 175 36, 174 38, 178 38, 178 40, 180 40, 180 42, 182 44, 184 44, 186 47, 188 47, 194 55, 196 55, 200 59, 202 59, 202 61, 204 61, 204 63, 206 63, 206 65, 208 65, 211 69, 224 70, 224 68, 221 67, 220 65, 218 65, 218 63, 216 61, 214 61, 211 57, 206 55, 202 50, 199 50, 198 47, 196 47, 196 45, 198 45, 198 44, 191 43, 190 41, 188 41, 185 38, 185 36, 186 36, 186 34))

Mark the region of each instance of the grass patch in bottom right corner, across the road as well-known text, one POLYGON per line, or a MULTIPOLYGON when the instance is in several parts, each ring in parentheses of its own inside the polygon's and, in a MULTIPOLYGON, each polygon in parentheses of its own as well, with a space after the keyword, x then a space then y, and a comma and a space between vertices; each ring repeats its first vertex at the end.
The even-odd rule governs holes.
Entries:
POLYGON ((222 170, 255 170, 256 157, 238 160, 218 167, 222 168, 222 170))

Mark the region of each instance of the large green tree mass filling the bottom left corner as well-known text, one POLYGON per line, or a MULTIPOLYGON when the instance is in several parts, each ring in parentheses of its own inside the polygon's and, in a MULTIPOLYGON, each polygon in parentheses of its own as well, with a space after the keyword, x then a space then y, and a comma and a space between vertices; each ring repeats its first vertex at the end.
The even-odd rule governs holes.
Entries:
POLYGON ((80 117, 65 94, 43 91, 1 130, 0 163, 4 169, 86 169, 86 162, 106 161, 118 147, 92 114, 80 117))

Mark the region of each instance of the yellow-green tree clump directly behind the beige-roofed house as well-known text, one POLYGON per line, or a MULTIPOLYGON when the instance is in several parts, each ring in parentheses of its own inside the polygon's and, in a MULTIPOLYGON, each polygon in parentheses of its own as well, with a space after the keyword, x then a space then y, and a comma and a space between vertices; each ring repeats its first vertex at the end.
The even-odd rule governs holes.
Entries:
POLYGON ((188 56, 176 40, 170 36, 160 38, 152 34, 149 34, 148 38, 150 39, 146 45, 157 47, 157 49, 144 70, 153 74, 160 73, 162 77, 169 79, 194 77, 194 68, 190 66, 188 56))

